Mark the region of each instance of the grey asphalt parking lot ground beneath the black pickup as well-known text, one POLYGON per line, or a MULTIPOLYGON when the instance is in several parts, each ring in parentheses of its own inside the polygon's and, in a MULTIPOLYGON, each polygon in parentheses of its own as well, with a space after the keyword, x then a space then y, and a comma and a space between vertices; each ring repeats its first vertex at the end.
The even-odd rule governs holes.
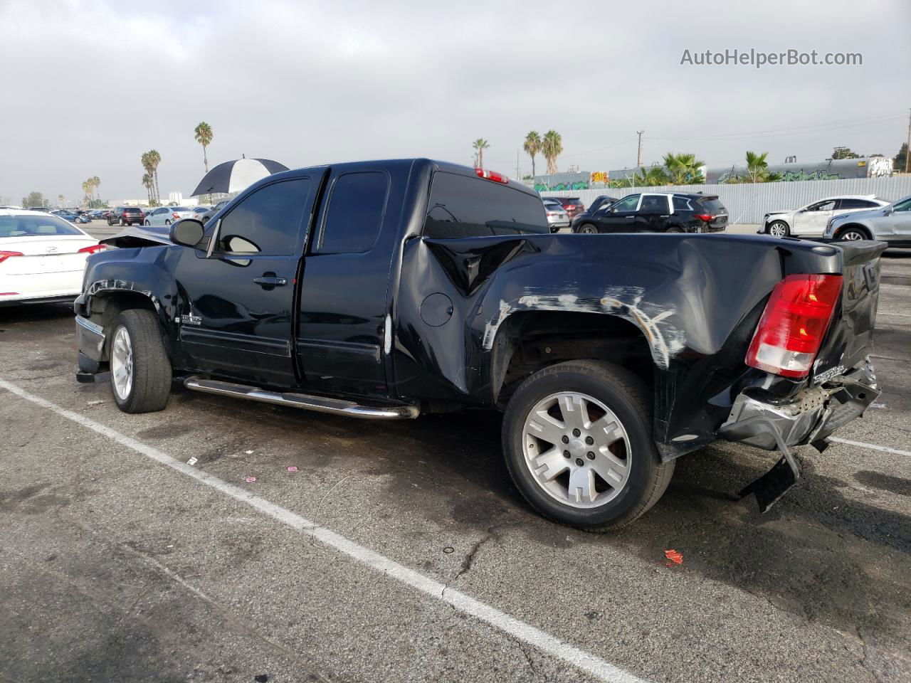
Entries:
POLYGON ((0 679, 911 680, 911 250, 881 281, 853 443, 767 515, 773 454, 712 445, 609 535, 531 512, 496 416, 127 415, 67 306, 0 310, 0 679))

